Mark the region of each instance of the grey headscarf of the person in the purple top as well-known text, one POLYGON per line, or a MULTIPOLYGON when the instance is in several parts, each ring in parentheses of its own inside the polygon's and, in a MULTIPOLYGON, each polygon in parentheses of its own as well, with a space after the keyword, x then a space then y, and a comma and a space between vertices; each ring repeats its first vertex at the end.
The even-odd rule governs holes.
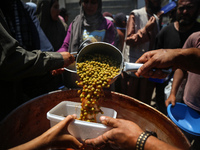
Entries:
POLYGON ((84 28, 88 31, 94 31, 100 27, 105 19, 102 15, 102 0, 98 0, 97 12, 92 16, 87 16, 84 13, 82 2, 83 0, 79 2, 81 5, 80 14, 72 21, 69 52, 78 51, 80 44, 83 42, 82 33, 84 28))

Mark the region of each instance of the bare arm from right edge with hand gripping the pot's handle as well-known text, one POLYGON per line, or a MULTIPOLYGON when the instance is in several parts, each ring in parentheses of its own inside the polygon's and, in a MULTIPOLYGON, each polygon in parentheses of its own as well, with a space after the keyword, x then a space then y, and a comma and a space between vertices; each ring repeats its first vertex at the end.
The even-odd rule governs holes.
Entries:
POLYGON ((146 78, 165 78, 167 76, 159 69, 153 72, 153 68, 173 67, 173 70, 180 68, 200 74, 200 50, 199 48, 153 50, 143 54, 136 63, 144 63, 137 70, 136 75, 146 78))

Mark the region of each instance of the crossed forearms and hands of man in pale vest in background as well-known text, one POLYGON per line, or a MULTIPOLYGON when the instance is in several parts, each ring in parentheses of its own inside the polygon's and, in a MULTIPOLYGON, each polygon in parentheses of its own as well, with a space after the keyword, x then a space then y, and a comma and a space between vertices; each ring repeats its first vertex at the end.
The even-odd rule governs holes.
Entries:
POLYGON ((135 46, 149 41, 150 31, 156 26, 156 18, 152 16, 147 22, 146 26, 138 30, 138 32, 136 33, 134 18, 134 14, 132 13, 129 16, 129 20, 127 23, 126 44, 130 46, 135 46))

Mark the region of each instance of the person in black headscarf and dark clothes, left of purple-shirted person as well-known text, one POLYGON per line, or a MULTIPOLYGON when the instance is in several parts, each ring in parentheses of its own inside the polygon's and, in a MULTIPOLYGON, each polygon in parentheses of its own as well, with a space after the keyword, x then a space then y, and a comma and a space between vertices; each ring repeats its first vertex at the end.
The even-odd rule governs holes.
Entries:
MULTIPOLYGON (((67 25, 59 18, 59 13, 58 0, 39 0, 37 2, 36 15, 54 51, 57 51, 62 46, 67 34, 67 25)), ((64 85, 62 74, 56 76, 49 74, 47 77, 43 78, 45 82, 48 82, 48 79, 50 79, 51 81, 49 82, 52 83, 49 87, 54 87, 55 90, 64 85)))

